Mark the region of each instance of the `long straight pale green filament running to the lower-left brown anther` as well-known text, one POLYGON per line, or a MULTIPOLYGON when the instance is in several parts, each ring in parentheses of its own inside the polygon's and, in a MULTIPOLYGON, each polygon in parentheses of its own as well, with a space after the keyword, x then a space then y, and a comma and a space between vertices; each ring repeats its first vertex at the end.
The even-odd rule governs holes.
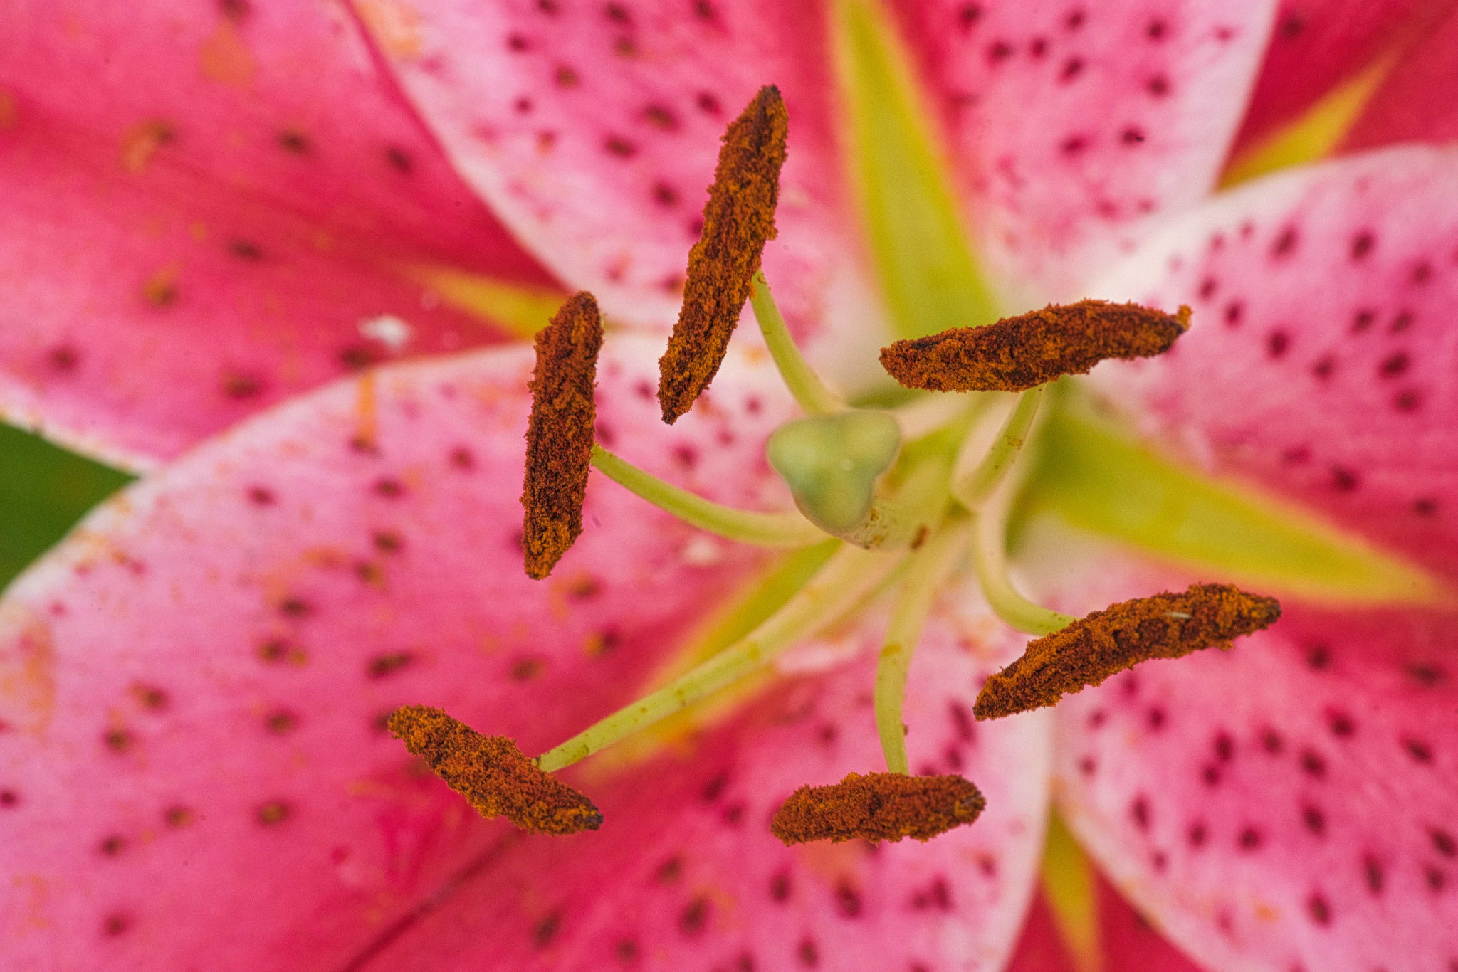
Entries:
POLYGON ((537 758, 537 765, 545 772, 570 767, 579 759, 585 759, 693 705, 706 695, 733 685, 786 648, 857 608, 903 560, 856 546, 841 548, 815 574, 814 580, 748 635, 663 688, 620 708, 560 746, 544 752, 537 758))

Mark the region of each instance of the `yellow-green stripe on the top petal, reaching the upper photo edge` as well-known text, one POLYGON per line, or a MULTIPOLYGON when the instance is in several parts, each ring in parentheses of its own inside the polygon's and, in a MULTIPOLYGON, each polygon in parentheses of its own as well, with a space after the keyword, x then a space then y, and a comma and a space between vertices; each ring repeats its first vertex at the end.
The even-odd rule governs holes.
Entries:
POLYGON ((991 324, 1002 315, 892 25, 875 0, 837 0, 833 25, 851 182, 897 335, 991 324))

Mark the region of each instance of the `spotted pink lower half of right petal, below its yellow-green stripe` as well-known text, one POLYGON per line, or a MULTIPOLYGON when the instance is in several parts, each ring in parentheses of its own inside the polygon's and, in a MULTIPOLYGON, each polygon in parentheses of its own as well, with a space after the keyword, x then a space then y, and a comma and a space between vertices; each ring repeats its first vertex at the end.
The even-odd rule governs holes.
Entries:
MULTIPOLYGON (((1089 603, 1174 583, 1121 580, 1089 603)), ((1228 653, 1152 662, 1076 695, 1059 708, 1069 825, 1203 966, 1448 968, 1452 625, 1287 603, 1279 627, 1228 653)))

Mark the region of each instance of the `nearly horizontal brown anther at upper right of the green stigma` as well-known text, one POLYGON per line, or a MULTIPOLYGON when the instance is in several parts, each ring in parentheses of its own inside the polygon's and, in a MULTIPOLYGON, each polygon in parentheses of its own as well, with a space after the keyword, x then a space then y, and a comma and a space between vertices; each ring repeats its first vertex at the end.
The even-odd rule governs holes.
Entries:
POLYGON ((1104 358, 1163 354, 1190 328, 1190 307, 1169 315, 1137 303, 1048 305, 983 328, 954 328, 881 348, 881 366, 905 388, 1021 392, 1104 358))

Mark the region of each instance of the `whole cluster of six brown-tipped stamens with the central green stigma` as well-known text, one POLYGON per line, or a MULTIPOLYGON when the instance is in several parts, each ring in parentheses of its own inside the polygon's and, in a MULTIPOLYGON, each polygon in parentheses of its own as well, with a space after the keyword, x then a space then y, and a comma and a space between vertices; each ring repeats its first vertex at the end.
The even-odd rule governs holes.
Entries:
POLYGON ((688 261, 684 307, 659 360, 663 421, 693 408, 717 372, 745 302, 795 401, 806 414, 770 436, 767 458, 798 513, 738 510, 663 482, 593 443, 592 389, 602 328, 596 302, 567 300, 537 335, 522 504, 526 573, 545 577, 582 532, 589 466, 682 520, 746 544, 834 544, 777 608, 744 637, 666 685, 526 759, 500 736, 481 736, 439 710, 405 707, 391 730, 483 815, 542 832, 595 829, 602 818, 550 774, 761 670, 774 657, 895 587, 875 681, 875 718, 888 772, 802 787, 774 832, 809 839, 929 839, 972 822, 984 800, 956 775, 911 777, 903 694, 936 590, 971 560, 993 611, 1021 631, 1050 635, 994 676, 978 718, 1056 704, 1149 657, 1174 657, 1271 624, 1279 606, 1219 584, 1126 602, 1086 619, 1025 599, 1005 570, 1007 512, 1040 431, 1045 386, 1108 357, 1168 350, 1190 310, 1085 300, 980 328, 955 328, 882 350, 886 370, 921 395, 894 411, 846 404, 795 345, 761 251, 774 236, 784 105, 763 89, 725 136, 688 261), (968 557, 971 554, 971 557, 968 557))

